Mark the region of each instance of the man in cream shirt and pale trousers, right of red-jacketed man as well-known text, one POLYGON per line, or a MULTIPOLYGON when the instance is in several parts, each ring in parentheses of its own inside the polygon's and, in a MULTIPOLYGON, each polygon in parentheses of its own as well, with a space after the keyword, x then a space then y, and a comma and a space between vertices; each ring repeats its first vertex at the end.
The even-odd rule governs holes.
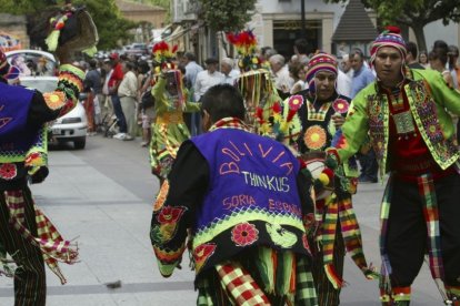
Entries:
POLYGON ((127 133, 120 135, 118 139, 130 141, 136 137, 137 132, 136 99, 138 94, 138 78, 133 72, 134 64, 132 62, 123 62, 121 69, 124 76, 118 86, 118 96, 120 96, 121 109, 123 110, 124 119, 127 121, 127 133))

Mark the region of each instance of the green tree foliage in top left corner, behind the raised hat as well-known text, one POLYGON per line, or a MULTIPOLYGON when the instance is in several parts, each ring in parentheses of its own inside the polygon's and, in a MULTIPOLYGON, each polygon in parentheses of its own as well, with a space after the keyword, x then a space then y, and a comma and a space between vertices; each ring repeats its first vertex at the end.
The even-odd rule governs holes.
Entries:
MULTIPOLYGON (((87 7, 98 28, 100 50, 116 48, 117 42, 130 38, 129 30, 137 27, 134 22, 121 17, 114 0, 73 0, 72 3, 87 7)), ((44 39, 48 35, 48 20, 62 4, 62 0, 0 0, 2 12, 27 16, 31 45, 43 50, 47 49, 44 39)))

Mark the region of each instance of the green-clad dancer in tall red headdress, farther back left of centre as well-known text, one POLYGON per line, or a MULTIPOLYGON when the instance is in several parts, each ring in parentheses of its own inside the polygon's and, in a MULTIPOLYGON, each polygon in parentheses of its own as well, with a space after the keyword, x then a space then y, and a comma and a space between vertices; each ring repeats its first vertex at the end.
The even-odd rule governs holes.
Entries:
POLYGON ((182 73, 172 62, 177 47, 164 41, 153 45, 154 60, 159 63, 156 84, 152 88, 154 113, 150 141, 150 165, 160 185, 168 176, 180 144, 190 137, 183 121, 183 112, 198 112, 199 103, 188 102, 182 73))

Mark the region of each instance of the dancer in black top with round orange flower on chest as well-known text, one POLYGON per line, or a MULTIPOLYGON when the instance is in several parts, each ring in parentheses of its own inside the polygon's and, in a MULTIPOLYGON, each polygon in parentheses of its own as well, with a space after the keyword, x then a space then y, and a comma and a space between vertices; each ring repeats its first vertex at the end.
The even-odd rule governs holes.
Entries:
MULTIPOLYGON (((337 92, 337 60, 320 52, 307 64, 308 89, 284 101, 284 118, 289 118, 290 129, 289 133, 281 131, 281 141, 307 162, 309 154, 314 155, 331 146, 349 110, 350 99, 337 92)), ((311 238, 314 245, 313 278, 321 306, 340 304, 346 251, 366 277, 377 277, 366 262, 352 207, 351 195, 357 190, 357 163, 352 159, 336 170, 333 193, 316 201, 317 231, 311 238)))

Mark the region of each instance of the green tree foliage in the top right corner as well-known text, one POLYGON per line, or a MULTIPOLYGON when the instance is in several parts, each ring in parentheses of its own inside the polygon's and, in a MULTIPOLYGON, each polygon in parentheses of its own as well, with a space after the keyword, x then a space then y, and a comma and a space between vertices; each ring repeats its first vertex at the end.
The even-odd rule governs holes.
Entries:
MULTIPOLYGON (((379 22, 410 27, 420 50, 427 50, 423 28, 430 22, 442 20, 460 21, 460 0, 361 0, 367 8, 377 12, 379 22)), ((346 2, 346 0, 324 0, 324 2, 346 2)))

